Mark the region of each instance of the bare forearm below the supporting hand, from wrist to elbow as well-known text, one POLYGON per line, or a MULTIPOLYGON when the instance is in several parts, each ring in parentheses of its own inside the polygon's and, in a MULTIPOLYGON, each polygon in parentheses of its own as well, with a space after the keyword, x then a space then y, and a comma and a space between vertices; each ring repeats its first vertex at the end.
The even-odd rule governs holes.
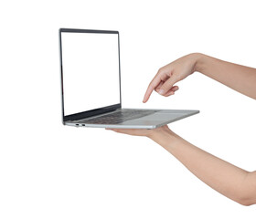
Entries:
POLYGON ((244 185, 249 172, 197 148, 174 133, 158 136, 153 140, 211 188, 238 203, 248 204, 244 185))

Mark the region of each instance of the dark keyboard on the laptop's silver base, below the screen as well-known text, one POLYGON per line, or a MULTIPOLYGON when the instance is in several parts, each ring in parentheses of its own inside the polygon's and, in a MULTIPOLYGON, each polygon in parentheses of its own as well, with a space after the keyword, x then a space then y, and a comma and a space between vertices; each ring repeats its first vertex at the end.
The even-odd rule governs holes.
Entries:
POLYGON ((107 115, 103 115, 101 117, 81 120, 79 123, 87 123, 87 124, 118 124, 127 120, 134 120, 144 116, 148 116, 154 114, 159 110, 118 110, 107 115))

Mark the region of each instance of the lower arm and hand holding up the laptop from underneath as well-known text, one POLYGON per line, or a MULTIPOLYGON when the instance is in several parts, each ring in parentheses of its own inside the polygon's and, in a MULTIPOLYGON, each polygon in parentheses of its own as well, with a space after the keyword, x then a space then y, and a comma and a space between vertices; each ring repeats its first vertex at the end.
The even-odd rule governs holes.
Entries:
POLYGON ((115 130, 146 136, 182 162, 198 179, 243 205, 256 203, 256 172, 247 172, 185 141, 167 126, 155 130, 115 130))

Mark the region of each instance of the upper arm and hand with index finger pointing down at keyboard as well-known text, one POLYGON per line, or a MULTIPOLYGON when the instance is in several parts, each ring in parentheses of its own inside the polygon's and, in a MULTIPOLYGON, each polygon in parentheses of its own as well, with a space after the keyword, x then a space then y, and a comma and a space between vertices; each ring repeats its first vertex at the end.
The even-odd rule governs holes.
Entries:
POLYGON ((158 70, 145 92, 144 102, 149 99, 154 89, 165 97, 173 95, 178 89, 174 86, 176 82, 187 78, 195 71, 256 99, 256 68, 240 66, 200 53, 192 53, 158 70))

